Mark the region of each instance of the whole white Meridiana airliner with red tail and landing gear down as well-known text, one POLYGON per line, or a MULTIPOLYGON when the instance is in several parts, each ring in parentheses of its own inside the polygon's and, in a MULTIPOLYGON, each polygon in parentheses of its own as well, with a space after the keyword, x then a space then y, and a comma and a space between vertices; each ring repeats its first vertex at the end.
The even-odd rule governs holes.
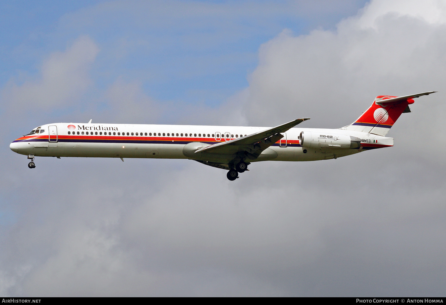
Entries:
POLYGON ((393 146, 388 131, 413 99, 379 95, 359 118, 337 129, 296 128, 309 118, 273 128, 146 124, 55 123, 34 128, 12 141, 12 151, 34 157, 190 159, 226 169, 234 181, 258 161, 337 159, 364 150, 393 146))

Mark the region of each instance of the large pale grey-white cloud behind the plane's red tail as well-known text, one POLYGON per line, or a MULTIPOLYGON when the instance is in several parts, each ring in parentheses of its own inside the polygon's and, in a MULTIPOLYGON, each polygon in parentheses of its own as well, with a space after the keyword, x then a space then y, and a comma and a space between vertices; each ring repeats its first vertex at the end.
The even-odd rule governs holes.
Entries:
MULTIPOLYGON (((262 45, 244 109, 249 124, 310 117, 299 126, 340 128, 359 117, 377 95, 440 91, 416 99, 413 112, 402 115, 388 136, 394 136, 397 145, 404 145, 400 139, 410 143, 403 149, 413 156, 419 156, 420 147, 409 140, 412 136, 444 149, 436 139, 445 131, 441 100, 446 26, 405 10, 393 13, 394 7, 380 3, 374 1, 362 14, 341 21, 335 31, 293 36, 284 30, 262 45), (363 29, 364 16, 373 16, 374 28, 363 29)), ((429 9, 423 4, 420 13, 429 9)), ((422 151, 419 157, 435 155, 443 162, 437 152, 422 151)))

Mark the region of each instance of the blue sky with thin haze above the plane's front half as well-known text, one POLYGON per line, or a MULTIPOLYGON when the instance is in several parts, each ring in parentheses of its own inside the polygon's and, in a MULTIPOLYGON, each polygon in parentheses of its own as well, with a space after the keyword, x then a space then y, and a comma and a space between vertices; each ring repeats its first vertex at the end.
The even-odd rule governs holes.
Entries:
POLYGON ((0 81, 38 74, 49 53, 88 35, 101 50, 91 71, 99 89, 121 77, 158 100, 215 106, 248 86, 262 43, 285 28, 333 27, 363 4, 296 17, 289 1, 3 2, 0 81))

